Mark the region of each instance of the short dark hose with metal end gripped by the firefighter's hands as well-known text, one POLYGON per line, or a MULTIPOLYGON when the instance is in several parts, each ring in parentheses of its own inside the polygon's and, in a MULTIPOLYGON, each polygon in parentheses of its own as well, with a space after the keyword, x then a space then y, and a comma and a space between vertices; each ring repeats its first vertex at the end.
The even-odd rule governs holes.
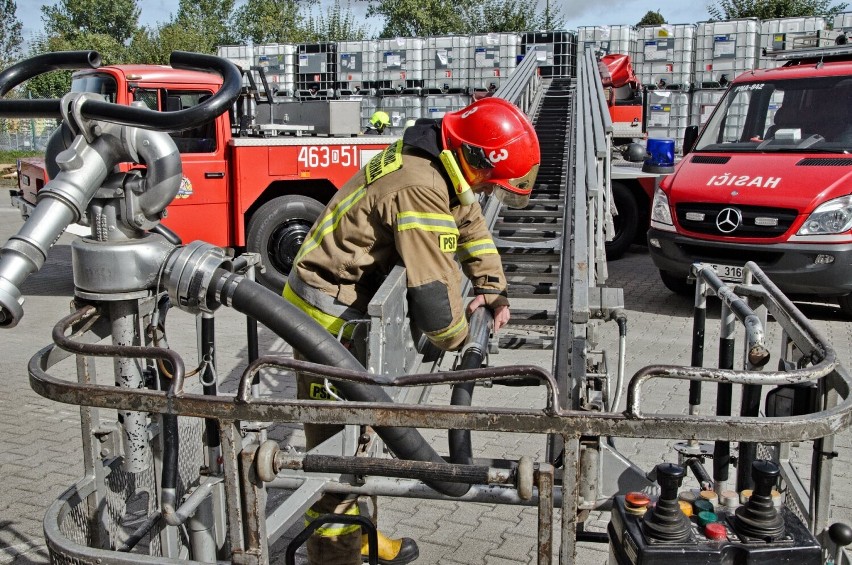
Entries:
MULTIPOLYGON (((470 317, 470 333, 462 348, 462 359, 458 369, 479 369, 485 359, 488 347, 488 335, 494 316, 488 308, 477 308, 470 317)), ((456 383, 450 404, 453 406, 470 406, 473 401, 475 381, 456 383)), ((447 440, 450 444, 450 463, 473 465, 473 447, 471 446, 470 430, 449 430, 447 440)))

